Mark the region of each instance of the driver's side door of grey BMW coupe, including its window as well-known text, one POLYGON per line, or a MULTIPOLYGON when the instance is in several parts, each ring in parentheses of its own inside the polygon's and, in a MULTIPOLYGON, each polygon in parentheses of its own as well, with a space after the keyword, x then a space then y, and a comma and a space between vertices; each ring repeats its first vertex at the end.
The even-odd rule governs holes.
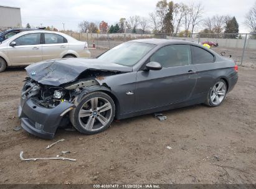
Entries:
POLYGON ((189 45, 168 45, 148 60, 162 65, 161 70, 140 70, 136 78, 136 110, 186 101, 196 85, 189 45))

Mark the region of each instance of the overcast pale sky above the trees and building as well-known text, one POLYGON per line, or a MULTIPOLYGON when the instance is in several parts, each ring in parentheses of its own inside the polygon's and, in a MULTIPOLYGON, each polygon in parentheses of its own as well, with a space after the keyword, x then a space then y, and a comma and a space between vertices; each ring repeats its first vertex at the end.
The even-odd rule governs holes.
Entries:
MULTIPOLYGON (((201 2, 204 17, 216 14, 235 16, 239 23, 239 32, 249 32, 244 24, 245 15, 254 5, 255 0, 174 0, 174 2, 201 2)), ((34 27, 54 25, 57 29, 79 30, 78 23, 86 20, 108 25, 116 24, 120 17, 134 15, 148 17, 153 12, 158 0, 0 0, 1 6, 21 7, 22 25, 27 23, 34 27), (64 23, 65 25, 63 25, 64 23)), ((197 28, 197 31, 201 28, 197 28)))

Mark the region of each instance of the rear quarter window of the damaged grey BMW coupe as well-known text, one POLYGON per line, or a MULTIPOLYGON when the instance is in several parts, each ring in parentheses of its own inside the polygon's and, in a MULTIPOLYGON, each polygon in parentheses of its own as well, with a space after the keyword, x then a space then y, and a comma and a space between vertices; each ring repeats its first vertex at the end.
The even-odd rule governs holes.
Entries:
POLYGON ((214 62, 214 55, 207 52, 206 50, 195 46, 191 46, 191 50, 193 64, 214 62))

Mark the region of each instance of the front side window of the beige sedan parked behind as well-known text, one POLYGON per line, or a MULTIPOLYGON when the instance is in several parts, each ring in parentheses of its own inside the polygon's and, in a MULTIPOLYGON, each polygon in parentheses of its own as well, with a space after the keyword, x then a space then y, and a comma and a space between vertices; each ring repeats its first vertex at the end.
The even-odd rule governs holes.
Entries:
POLYGON ((17 39, 13 40, 16 42, 16 46, 20 45, 38 45, 40 44, 40 36, 41 34, 26 34, 18 37, 17 39))

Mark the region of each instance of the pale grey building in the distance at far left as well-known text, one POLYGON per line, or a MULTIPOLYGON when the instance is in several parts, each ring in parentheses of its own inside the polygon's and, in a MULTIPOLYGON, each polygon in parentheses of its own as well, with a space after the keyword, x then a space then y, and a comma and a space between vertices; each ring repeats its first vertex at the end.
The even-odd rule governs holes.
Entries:
POLYGON ((21 26, 21 8, 0 6, 0 30, 21 26))

